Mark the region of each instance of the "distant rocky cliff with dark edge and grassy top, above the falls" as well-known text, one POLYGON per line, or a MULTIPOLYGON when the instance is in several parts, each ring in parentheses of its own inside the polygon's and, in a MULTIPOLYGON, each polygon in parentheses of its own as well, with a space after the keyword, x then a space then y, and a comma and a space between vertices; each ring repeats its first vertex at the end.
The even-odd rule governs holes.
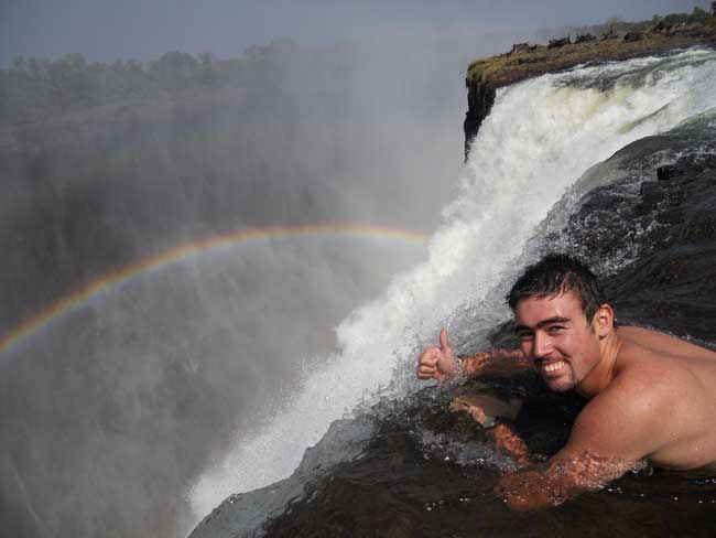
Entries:
POLYGON ((508 53, 473 62, 466 78, 465 158, 500 87, 579 64, 628 60, 696 44, 716 45, 716 15, 701 23, 670 25, 660 22, 649 28, 644 24, 633 23, 631 31, 626 26, 627 30, 618 34, 603 34, 600 40, 586 34, 577 35, 575 43, 569 36, 552 40, 549 45, 518 43, 508 53))

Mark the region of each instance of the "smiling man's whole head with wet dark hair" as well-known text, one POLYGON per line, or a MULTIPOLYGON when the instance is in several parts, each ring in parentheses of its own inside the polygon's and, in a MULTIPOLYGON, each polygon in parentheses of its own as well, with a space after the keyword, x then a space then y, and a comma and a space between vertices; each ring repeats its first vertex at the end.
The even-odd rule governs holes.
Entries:
POLYGON ((594 273, 573 258, 550 255, 527 268, 507 302, 522 353, 547 386, 589 392, 601 377, 603 343, 614 329, 594 273))

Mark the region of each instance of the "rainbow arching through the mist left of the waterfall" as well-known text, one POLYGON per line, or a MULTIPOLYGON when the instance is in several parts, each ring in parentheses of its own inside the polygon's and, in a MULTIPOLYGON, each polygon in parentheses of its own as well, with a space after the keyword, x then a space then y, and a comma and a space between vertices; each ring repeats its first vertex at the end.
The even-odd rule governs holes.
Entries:
POLYGON ((51 321, 78 308, 93 298, 118 288, 133 278, 150 271, 156 271, 189 258, 198 257, 210 251, 235 248, 239 245, 284 239, 293 237, 339 237, 339 238, 375 238, 394 239, 424 246, 427 236, 420 232, 411 232, 389 226, 361 224, 317 224, 294 226, 268 226, 262 228, 245 228, 220 235, 209 236, 193 243, 155 254, 127 267, 116 269, 83 286, 78 290, 52 302, 40 312, 29 316, 0 337, 0 353, 7 352, 20 342, 28 340, 51 321))

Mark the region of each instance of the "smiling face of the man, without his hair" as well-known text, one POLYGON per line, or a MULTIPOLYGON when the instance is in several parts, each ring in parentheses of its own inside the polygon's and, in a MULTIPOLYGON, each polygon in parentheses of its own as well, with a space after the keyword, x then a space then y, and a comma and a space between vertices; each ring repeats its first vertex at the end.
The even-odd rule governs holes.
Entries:
POLYGON ((514 319, 522 353, 552 390, 577 387, 599 363, 599 338, 573 292, 523 299, 514 319))

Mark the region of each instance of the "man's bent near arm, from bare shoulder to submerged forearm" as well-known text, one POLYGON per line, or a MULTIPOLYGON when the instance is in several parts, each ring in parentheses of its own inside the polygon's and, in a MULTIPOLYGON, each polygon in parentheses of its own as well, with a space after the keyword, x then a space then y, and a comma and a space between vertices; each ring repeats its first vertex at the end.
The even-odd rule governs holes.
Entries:
POLYGON ((502 476, 497 495, 514 510, 531 510, 604 487, 657 450, 661 407, 646 388, 609 388, 584 408, 557 454, 502 476))

